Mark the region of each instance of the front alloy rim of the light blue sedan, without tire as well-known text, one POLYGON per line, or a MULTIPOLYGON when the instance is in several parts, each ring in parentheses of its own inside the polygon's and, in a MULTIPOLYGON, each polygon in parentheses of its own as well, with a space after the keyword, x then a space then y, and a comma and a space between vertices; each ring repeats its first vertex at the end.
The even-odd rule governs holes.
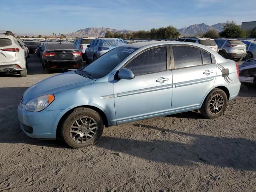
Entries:
POLYGON ((86 143, 96 136, 97 131, 96 120, 91 117, 81 117, 72 122, 69 135, 76 143, 86 143))

